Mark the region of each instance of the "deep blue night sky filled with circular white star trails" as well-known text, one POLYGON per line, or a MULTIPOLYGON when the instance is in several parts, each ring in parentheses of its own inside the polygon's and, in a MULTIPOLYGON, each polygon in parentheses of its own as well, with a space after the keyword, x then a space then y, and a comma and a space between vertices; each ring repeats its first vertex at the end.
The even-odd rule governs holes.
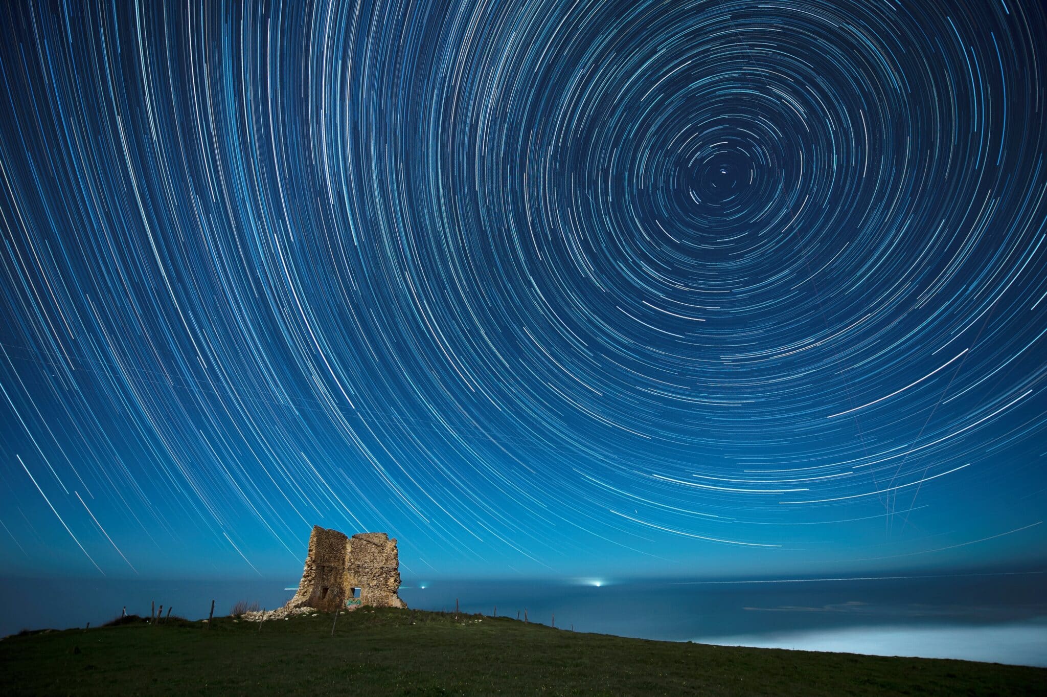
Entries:
POLYGON ((1047 561, 1038 0, 0 25, 6 572, 1047 561))

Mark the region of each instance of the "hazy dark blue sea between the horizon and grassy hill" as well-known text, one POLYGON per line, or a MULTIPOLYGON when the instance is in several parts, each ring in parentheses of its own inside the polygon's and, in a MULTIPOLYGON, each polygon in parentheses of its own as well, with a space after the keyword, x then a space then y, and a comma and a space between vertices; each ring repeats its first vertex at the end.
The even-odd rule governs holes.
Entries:
MULTIPOLYGON (((227 614, 239 600, 284 604, 297 579, 242 581, 0 579, 0 635, 98 626, 149 614, 227 614)), ((1047 667, 1047 574, 808 582, 405 579, 413 608, 524 619, 599 632, 725 646, 963 658, 1047 667), (598 585, 599 584, 599 585, 598 585)))

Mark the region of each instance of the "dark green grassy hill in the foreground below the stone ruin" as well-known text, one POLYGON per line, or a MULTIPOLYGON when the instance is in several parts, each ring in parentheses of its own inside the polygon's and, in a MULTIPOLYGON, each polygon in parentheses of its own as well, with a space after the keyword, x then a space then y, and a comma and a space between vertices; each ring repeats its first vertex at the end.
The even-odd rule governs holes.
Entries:
POLYGON ((3 695, 1047 695, 1047 670, 647 642, 362 610, 73 629, 0 642, 3 695), (464 623, 464 624, 463 624, 464 623), (79 649, 79 651, 77 651, 79 649))

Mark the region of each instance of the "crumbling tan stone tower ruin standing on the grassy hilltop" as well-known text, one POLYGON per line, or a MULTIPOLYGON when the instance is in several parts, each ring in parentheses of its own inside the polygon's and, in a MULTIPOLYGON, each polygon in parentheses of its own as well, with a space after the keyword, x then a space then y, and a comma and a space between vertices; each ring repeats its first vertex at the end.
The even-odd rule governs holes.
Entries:
POLYGON ((336 530, 316 525, 309 536, 309 556, 302 571, 291 608, 314 608, 325 612, 355 609, 360 605, 399 607, 400 558, 396 539, 385 533, 359 533, 348 537, 336 530), (359 588, 358 602, 354 601, 359 588))

